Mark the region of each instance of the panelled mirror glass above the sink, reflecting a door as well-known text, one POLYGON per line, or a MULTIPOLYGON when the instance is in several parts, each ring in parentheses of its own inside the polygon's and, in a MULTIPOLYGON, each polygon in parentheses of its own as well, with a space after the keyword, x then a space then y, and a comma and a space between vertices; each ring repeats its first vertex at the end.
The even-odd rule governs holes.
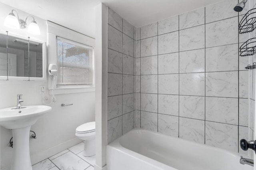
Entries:
POLYGON ((43 43, 0 34, 0 76, 42 78, 43 43))

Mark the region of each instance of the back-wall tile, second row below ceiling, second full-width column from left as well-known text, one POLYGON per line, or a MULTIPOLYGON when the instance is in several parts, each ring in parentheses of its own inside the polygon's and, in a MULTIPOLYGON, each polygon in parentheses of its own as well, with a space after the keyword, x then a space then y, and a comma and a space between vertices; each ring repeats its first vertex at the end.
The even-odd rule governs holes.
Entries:
POLYGON ((158 36, 158 54, 179 51, 179 32, 171 32, 158 36))

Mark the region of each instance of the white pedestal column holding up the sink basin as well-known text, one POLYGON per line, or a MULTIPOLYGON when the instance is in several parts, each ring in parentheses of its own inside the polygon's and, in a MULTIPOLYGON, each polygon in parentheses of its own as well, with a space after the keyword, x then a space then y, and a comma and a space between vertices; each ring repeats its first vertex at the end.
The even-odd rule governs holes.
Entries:
POLYGON ((30 127, 12 129, 13 158, 11 170, 32 170, 29 152, 30 127))

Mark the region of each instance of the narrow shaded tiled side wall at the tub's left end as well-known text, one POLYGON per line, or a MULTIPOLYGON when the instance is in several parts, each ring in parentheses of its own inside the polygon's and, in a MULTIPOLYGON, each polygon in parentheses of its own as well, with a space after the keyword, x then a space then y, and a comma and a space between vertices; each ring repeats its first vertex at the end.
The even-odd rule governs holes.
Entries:
POLYGON ((108 143, 134 127, 134 26, 108 8, 108 143))

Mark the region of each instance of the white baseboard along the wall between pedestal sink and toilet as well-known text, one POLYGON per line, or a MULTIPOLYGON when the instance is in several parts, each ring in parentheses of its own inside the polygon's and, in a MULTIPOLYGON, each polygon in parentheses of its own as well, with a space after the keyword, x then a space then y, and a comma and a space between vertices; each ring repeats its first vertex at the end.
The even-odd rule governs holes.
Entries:
POLYGON ((81 139, 79 138, 73 138, 73 139, 70 139, 64 143, 61 143, 61 144, 58 144, 56 146, 53 146, 47 150, 44 150, 42 152, 39 152, 39 153, 36 153, 36 154, 33 154, 33 155, 30 155, 30 158, 31 158, 31 164, 34 165, 42 160, 45 160, 67 148, 70 148, 78 143, 82 142, 81 139))

